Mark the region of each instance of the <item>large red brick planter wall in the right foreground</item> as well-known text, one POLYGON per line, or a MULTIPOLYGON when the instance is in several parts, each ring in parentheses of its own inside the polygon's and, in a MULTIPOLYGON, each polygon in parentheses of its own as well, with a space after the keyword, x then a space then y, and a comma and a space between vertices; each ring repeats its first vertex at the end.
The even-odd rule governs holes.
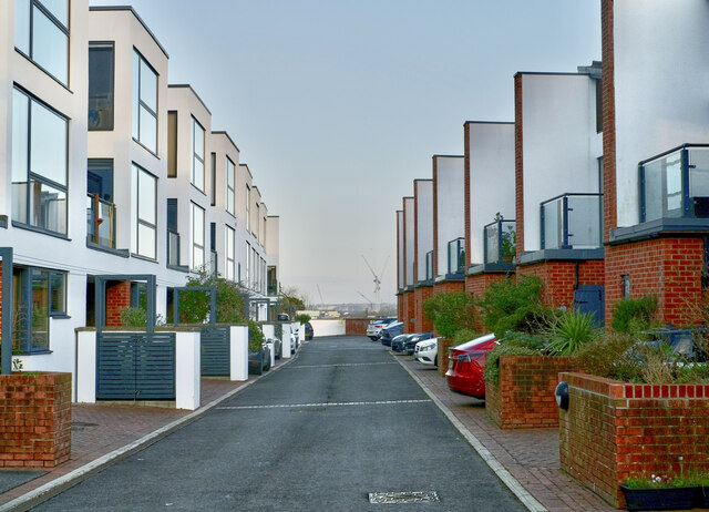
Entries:
POLYGON ((615 506, 629 477, 709 469, 709 386, 630 385, 562 373, 569 407, 559 413, 562 469, 615 506))

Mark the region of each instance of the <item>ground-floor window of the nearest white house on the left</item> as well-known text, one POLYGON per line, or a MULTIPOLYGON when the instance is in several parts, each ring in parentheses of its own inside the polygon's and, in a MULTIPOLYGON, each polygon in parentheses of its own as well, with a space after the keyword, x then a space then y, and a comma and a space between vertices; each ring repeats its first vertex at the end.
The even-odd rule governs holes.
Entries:
POLYGON ((66 315, 66 274, 16 266, 12 269, 12 351, 48 351, 50 317, 66 315))

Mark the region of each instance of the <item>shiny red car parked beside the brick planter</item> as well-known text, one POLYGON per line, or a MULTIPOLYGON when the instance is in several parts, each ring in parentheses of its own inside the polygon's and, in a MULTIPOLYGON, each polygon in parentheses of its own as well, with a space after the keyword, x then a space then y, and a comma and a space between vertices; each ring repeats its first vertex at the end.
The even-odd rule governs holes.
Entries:
POLYGON ((451 391, 485 398, 485 356, 497 345, 495 335, 485 335, 451 349, 448 362, 448 387, 451 391))

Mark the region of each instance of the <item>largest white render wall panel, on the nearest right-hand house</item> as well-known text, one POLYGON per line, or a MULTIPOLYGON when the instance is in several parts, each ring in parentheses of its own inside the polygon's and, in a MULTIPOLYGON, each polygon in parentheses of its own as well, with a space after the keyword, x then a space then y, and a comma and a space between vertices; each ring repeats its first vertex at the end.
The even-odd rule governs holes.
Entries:
POLYGON ((615 2, 618 226, 639 222, 638 162, 709 142, 708 25, 706 0, 615 2))

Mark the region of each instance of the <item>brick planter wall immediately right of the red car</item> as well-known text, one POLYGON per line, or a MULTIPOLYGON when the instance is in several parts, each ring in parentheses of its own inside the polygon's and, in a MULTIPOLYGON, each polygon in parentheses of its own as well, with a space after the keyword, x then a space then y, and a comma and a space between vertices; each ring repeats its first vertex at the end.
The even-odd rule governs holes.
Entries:
POLYGON ((558 424, 554 390, 559 371, 572 370, 566 357, 502 356, 499 382, 485 381, 485 411, 502 429, 558 424))

